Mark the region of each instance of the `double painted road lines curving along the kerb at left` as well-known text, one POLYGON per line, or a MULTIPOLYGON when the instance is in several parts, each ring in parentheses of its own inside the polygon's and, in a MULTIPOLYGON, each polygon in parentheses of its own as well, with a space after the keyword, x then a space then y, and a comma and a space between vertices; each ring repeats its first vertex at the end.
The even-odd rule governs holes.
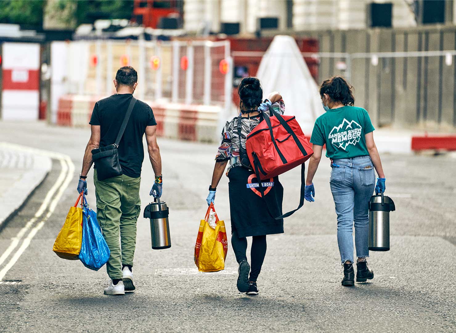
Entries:
POLYGON ((11 267, 13 267, 13 265, 16 263, 16 261, 21 257, 21 255, 24 253, 24 251, 30 245, 31 240, 36 235, 36 233, 43 227, 43 225, 45 224, 47 219, 49 219, 49 217, 54 212, 55 208, 57 207, 57 203, 60 201, 60 198, 62 198, 64 191, 66 190, 69 183, 73 179, 74 164, 71 161, 69 156, 59 154, 59 153, 56 153, 53 151, 44 151, 41 149, 34 149, 34 148, 30 148, 30 147, 19 146, 19 145, 15 145, 15 144, 8 144, 8 143, 3 143, 3 142, 0 142, 0 146, 6 146, 6 147, 19 149, 22 151, 28 151, 31 153, 40 154, 40 155, 58 159, 60 161, 60 164, 62 167, 59 177, 57 177, 57 181, 54 183, 54 185, 48 191, 46 197, 43 200, 43 203, 41 203, 40 208, 38 208, 37 212, 35 213, 35 216, 32 219, 30 219, 30 221, 28 221, 27 224, 17 233, 16 237, 11 239, 10 246, 8 246, 5 253, 3 255, 1 255, 0 265, 2 265, 5 262, 5 260, 9 257, 9 255, 13 252, 13 250, 16 249, 17 245, 19 245, 22 237, 24 236, 24 234, 26 234, 27 230, 30 229, 38 219, 40 219, 41 215, 48 208, 48 212, 44 216, 44 218, 42 218, 41 221, 38 224, 36 224, 35 227, 33 227, 33 229, 31 229, 30 233, 23 240, 21 246, 16 251, 16 253, 13 255, 13 257, 10 259, 8 264, 6 264, 5 267, 0 271, 0 280, 2 280, 3 277, 5 277, 6 273, 10 270, 11 267), (57 192, 57 190, 58 190, 58 192, 57 192), (56 192, 57 192, 57 194, 56 194, 56 192), (52 199, 52 201, 51 201, 51 199, 52 199))

